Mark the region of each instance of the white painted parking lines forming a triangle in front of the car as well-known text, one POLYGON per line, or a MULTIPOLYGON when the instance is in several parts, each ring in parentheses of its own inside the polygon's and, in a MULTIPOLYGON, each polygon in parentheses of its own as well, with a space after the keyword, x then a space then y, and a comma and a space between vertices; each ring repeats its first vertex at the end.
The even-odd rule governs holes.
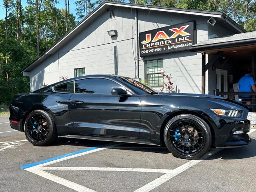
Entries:
MULTIPOLYGON (((248 132, 248 134, 254 132, 256 129, 252 129, 250 130, 250 132, 248 132)), ((119 146, 122 143, 117 143, 114 145, 110 145, 110 146, 106 146, 106 147, 102 147, 102 148, 96 148, 93 150, 89 150, 86 152, 81 152, 78 154, 74 154, 74 155, 70 155, 67 154, 67 156, 64 156, 63 158, 58 158, 56 160, 52 160, 49 162, 45 162, 45 163, 41 163, 41 164, 36 164, 35 166, 32 165, 31 167, 25 168, 25 170, 32 172, 34 174, 37 174, 39 176, 42 176, 43 178, 46 178, 48 180, 51 180, 53 182, 56 182, 58 184, 61 184, 63 186, 66 186, 68 188, 71 188, 75 191, 78 192, 95 192, 94 190, 87 188, 85 186, 82 186, 80 184, 76 184, 74 182, 71 182, 69 180, 66 180, 64 178, 55 176, 53 174, 50 174, 48 172, 46 172, 46 170, 58 170, 58 171, 77 171, 77 170, 84 170, 84 171, 125 171, 125 172, 158 172, 158 173, 165 173, 164 175, 160 176, 159 178, 156 178, 155 180, 153 180, 152 182, 149 182, 148 184, 142 186, 141 188, 138 188, 137 190, 135 190, 134 192, 149 192, 151 190, 153 190, 154 188, 160 186, 161 184, 163 184, 164 182, 170 180, 171 178, 173 178, 174 176, 184 172, 185 170, 187 170, 188 168, 194 166, 195 164, 198 164, 199 162, 201 162, 202 160, 208 158, 209 156, 212 156, 213 154, 216 154, 217 152, 219 152, 222 149, 214 149, 210 152, 208 152, 207 154, 205 154, 204 156, 202 156, 202 158, 200 158, 199 160, 190 160, 189 162, 179 166, 178 168, 174 169, 174 170, 167 170, 167 169, 146 169, 146 168, 112 168, 112 167, 48 167, 50 164, 54 164, 57 162, 61 162, 64 160, 68 160, 71 158, 75 158, 78 156, 82 156, 82 155, 86 155, 86 154, 90 154, 93 152, 97 152, 97 151, 101 151, 104 149, 127 149, 127 148, 151 148, 151 147, 128 147, 128 146, 119 146), (69 156, 68 156, 69 155, 69 156)), ((162 148, 162 147, 154 147, 154 148, 162 148)))

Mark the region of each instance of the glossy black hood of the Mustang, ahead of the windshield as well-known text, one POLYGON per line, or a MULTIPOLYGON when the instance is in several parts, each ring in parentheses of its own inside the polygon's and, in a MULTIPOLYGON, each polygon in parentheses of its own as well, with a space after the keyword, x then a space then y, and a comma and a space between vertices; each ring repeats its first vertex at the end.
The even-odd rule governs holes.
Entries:
POLYGON ((218 100, 223 100, 226 102, 230 102, 236 105, 239 105, 241 107, 244 107, 246 109, 248 109, 248 106, 245 104, 242 104, 241 102, 238 102, 236 100, 231 100, 231 99, 227 99, 224 97, 220 97, 220 96, 216 96, 216 95, 206 95, 206 94, 192 94, 192 93, 162 93, 160 92, 159 95, 162 96, 187 96, 187 97, 202 97, 202 98, 212 98, 212 99, 218 99, 218 100))

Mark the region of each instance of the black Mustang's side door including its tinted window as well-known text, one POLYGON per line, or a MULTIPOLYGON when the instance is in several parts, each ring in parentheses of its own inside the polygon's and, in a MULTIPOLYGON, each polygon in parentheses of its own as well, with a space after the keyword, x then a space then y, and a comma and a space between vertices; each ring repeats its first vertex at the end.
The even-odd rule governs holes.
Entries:
POLYGON ((140 99, 111 94, 122 85, 107 78, 76 80, 75 93, 68 106, 78 134, 138 138, 140 132, 140 99))

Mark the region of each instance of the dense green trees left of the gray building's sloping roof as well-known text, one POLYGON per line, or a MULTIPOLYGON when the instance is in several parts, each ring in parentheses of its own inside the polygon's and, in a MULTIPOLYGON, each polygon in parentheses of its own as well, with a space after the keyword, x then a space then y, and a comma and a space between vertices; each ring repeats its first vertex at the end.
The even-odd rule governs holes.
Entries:
POLYGON ((15 94, 29 91, 30 80, 22 76, 21 70, 36 59, 38 47, 42 54, 76 25, 73 14, 56 8, 56 0, 27 2, 23 8, 20 0, 4 0, 6 16, 0 20, 0 104, 10 104, 15 94))

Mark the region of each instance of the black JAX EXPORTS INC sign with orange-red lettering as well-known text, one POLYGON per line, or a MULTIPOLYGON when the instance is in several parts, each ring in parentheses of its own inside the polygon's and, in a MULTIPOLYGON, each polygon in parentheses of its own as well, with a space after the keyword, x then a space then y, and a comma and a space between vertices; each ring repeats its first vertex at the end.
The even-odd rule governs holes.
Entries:
POLYGON ((140 33, 140 56, 189 50, 194 45, 194 22, 140 33))

